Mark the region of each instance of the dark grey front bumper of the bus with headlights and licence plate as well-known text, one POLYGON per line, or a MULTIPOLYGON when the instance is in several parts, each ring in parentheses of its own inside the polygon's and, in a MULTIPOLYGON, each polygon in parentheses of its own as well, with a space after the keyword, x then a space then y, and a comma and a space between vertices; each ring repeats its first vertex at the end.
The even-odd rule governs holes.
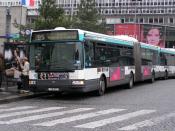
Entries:
POLYGON ((35 92, 89 92, 97 89, 97 83, 98 80, 30 80, 29 90, 35 92), (83 81, 84 84, 78 81, 83 81))

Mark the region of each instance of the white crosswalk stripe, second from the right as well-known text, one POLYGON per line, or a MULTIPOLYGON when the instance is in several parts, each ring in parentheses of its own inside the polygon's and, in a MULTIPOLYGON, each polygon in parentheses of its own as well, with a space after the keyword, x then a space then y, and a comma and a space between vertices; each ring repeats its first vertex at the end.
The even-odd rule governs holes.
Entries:
POLYGON ((94 121, 94 122, 78 125, 78 126, 75 126, 75 127, 93 129, 93 128, 96 128, 96 127, 101 127, 101 126, 105 126, 107 124, 112 124, 112 123, 115 123, 115 122, 128 120, 128 119, 131 119, 133 117, 146 115, 146 114, 150 114, 150 113, 153 113, 153 112, 155 112, 155 110, 140 110, 140 111, 127 113, 127 114, 116 116, 116 117, 111 117, 111 118, 108 118, 108 119, 103 119, 103 120, 99 120, 99 121, 94 121))

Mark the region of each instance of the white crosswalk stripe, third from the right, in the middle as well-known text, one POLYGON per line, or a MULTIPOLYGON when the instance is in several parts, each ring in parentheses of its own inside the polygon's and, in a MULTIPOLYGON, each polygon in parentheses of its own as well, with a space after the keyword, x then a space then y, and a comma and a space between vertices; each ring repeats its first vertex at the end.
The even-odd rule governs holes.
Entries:
POLYGON ((77 121, 77 120, 83 120, 83 119, 87 119, 87 118, 92 118, 92 117, 101 116, 101 115, 107 115, 107 114, 120 112, 120 111, 124 111, 124 110, 126 110, 126 109, 102 110, 102 111, 98 111, 98 112, 94 112, 94 113, 80 114, 80 115, 66 117, 66 118, 57 119, 57 120, 53 120, 53 121, 47 121, 47 122, 43 122, 43 123, 39 123, 39 124, 35 124, 35 125, 54 126, 54 125, 60 124, 60 123, 67 123, 67 122, 72 122, 72 121, 77 121))

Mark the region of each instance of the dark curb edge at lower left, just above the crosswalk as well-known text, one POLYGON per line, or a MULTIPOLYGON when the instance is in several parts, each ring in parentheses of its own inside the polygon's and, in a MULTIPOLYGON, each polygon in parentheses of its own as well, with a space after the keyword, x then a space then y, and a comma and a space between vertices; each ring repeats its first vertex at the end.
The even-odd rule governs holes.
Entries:
POLYGON ((13 95, 13 96, 6 97, 4 99, 0 98, 0 104, 20 101, 20 100, 30 99, 30 98, 35 98, 35 97, 40 97, 40 96, 44 96, 47 94, 48 93, 24 93, 24 94, 19 94, 19 95, 13 95))

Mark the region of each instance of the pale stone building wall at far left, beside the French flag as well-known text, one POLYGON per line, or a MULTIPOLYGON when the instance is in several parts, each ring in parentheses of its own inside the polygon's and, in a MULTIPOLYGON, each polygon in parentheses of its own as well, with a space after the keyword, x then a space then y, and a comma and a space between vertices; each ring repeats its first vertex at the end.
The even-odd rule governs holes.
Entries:
POLYGON ((15 22, 26 25, 27 8, 23 6, 0 7, 0 42, 8 37, 19 34, 19 28, 15 27, 15 22))

